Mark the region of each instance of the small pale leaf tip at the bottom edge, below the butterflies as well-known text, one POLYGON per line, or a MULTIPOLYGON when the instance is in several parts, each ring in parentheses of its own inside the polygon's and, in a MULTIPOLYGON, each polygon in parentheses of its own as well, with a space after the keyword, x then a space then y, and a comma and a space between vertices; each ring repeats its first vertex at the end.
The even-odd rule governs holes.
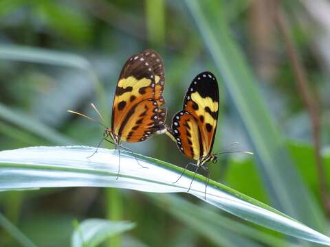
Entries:
POLYGON ((129 231, 135 227, 132 222, 88 219, 81 222, 72 235, 72 247, 94 247, 105 239, 129 231))

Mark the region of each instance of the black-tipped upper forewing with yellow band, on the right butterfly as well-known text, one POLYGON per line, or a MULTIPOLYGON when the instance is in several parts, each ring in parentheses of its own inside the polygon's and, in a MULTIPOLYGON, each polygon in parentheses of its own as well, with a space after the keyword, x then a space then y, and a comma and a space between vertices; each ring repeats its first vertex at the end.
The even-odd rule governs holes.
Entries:
POLYGON ((202 72, 192 80, 184 98, 184 110, 192 115, 199 126, 203 144, 201 156, 210 154, 217 130, 219 89, 215 76, 202 72))

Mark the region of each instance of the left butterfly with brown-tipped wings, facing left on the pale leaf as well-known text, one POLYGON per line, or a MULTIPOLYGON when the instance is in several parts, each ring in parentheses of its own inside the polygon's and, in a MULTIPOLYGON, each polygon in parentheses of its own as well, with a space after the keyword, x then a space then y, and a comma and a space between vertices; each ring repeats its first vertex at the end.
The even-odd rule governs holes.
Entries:
MULTIPOLYGON (((134 54, 126 60, 122 67, 113 97, 111 128, 99 121, 105 129, 104 138, 98 146, 103 140, 106 140, 113 143, 119 152, 117 179, 120 174, 120 148, 129 150, 122 147, 122 142, 146 141, 154 134, 166 132, 164 125, 166 108, 161 107, 165 104, 162 96, 164 85, 164 62, 161 56, 152 49, 134 54)), ((94 104, 91 106, 103 119, 94 104)), ((69 110, 69 112, 96 121, 73 110, 69 110)), ((135 159, 137 160, 136 157, 135 159)))

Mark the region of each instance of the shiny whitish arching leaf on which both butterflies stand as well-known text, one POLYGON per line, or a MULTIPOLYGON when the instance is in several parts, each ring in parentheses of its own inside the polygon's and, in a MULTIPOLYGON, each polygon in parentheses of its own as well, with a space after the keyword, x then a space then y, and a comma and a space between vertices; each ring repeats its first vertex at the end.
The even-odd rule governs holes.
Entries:
MULTIPOLYGON (((118 151, 99 149, 87 158, 95 148, 34 147, 0 152, 0 189, 23 189, 35 187, 115 187, 155 193, 187 192, 193 173, 186 172, 178 183, 173 184, 183 171, 154 158, 139 154, 140 165, 135 157, 121 152, 120 177, 118 174, 118 151)), ((190 194, 204 199, 205 177, 197 175, 190 194)), ((272 209, 234 189, 210 180, 206 202, 228 213, 271 228, 275 231, 328 244, 329 237, 297 222, 291 217, 272 209)))

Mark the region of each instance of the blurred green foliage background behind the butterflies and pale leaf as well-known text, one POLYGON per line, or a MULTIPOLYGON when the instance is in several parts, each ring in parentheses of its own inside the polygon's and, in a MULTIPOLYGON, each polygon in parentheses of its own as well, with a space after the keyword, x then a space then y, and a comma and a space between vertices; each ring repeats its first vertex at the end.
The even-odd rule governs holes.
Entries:
MULTIPOLYGON (((0 0, 0 150, 96 146, 102 128, 66 110, 96 117, 94 102, 109 118, 122 65, 155 49, 166 68, 167 124, 190 80, 212 71, 221 95, 213 151, 239 141, 236 150, 255 153, 219 157, 211 178, 327 234, 329 12, 325 0, 0 0)), ((188 162, 165 136, 126 146, 188 162)), ((90 217, 137 223, 103 246, 307 245, 181 197, 90 187, 10 191, 0 193, 0 212, 37 246, 69 246, 74 220, 90 217)), ((20 246, 3 227, 0 246, 20 246)))

